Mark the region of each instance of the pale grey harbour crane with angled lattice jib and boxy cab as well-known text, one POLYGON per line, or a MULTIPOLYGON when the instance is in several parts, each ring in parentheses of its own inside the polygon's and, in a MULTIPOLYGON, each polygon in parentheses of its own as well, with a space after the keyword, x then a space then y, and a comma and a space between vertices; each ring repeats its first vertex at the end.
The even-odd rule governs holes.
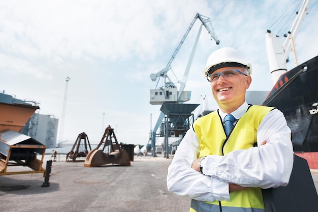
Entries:
MULTIPOLYGON (((214 40, 216 42, 216 45, 219 44, 219 40, 217 39, 213 25, 211 22, 211 19, 209 17, 203 16, 199 13, 196 14, 192 22, 190 23, 189 27, 187 28, 185 34, 183 35, 181 41, 179 42, 177 48, 174 50, 171 58, 169 59, 169 62, 165 68, 163 68, 161 71, 158 71, 155 74, 151 74, 150 78, 152 81, 157 80, 156 88, 150 89, 150 104, 152 105, 161 105, 163 103, 183 103, 186 101, 190 100, 191 97, 191 92, 190 91, 184 91, 184 87, 186 84, 186 80, 189 74, 190 67, 192 65, 192 61, 194 58, 194 54, 198 45, 198 41, 200 38, 200 34, 202 31, 202 26, 204 26, 208 33, 211 36, 211 40, 214 40), (192 29, 193 25, 195 24, 196 20, 199 19, 201 21, 201 26, 199 28, 199 32, 197 34, 197 38, 195 40, 194 46, 192 48, 192 52, 190 53, 190 57, 183 75, 183 78, 181 80, 178 80, 178 83, 180 84, 180 88, 178 90, 177 86, 175 83, 172 82, 170 77, 167 75, 168 71, 172 71, 171 64, 176 57, 178 51, 180 50, 182 44, 184 43, 186 37, 188 36, 190 30, 192 29), (157 87, 159 80, 163 78, 164 80, 164 85, 162 87, 157 87)), ((174 74, 174 73, 173 73, 174 74)), ((156 136, 156 131, 160 127, 162 120, 164 119, 165 114, 161 111, 158 120, 156 122, 156 125, 152 130, 150 130, 150 138, 149 141, 151 140, 151 146, 152 146, 152 156, 155 155, 155 136, 156 136)), ((149 143, 148 141, 148 143, 149 143)))

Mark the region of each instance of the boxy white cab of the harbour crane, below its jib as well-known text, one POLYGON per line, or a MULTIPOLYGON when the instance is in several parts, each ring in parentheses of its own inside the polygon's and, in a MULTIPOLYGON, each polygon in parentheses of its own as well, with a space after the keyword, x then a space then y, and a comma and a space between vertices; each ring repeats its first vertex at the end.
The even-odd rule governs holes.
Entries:
POLYGON ((162 105, 164 102, 180 103, 189 101, 191 98, 190 91, 183 91, 178 101, 177 87, 161 87, 150 89, 150 104, 162 105))

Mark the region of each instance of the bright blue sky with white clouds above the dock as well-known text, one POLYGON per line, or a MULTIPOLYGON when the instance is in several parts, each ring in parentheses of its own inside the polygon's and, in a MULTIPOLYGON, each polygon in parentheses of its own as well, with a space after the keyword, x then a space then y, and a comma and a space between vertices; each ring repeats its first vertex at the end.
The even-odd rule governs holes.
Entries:
MULTIPOLYGON (((197 13, 211 19, 220 44, 202 29, 185 86, 192 91, 187 103, 200 104, 206 96, 212 110, 216 105, 202 77, 209 54, 237 48, 253 66, 249 90, 269 91, 266 29, 281 33, 272 25, 294 2, 301 0, 0 1, 0 90, 38 102, 40 114, 61 121, 70 77, 58 140, 73 143, 85 132, 98 143, 110 125, 118 142, 143 145, 161 107, 149 104, 156 86, 149 76, 166 67, 197 13)), ((299 64, 318 55, 316 11, 317 0, 311 1, 295 41, 299 64)), ((171 65, 179 80, 200 24, 197 20, 171 65)), ((290 61, 294 68, 292 53, 290 61)))

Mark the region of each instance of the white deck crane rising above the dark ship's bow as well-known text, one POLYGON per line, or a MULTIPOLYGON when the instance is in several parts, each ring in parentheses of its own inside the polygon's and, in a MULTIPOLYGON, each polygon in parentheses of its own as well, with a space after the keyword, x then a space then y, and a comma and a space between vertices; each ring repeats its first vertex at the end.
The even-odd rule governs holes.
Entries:
MULTIPOLYGON (((294 39, 296 38, 299 28, 304 21, 305 15, 308 14, 308 7, 310 5, 311 0, 304 0, 299 11, 296 13, 297 17, 288 32, 285 34, 284 44, 281 45, 280 37, 273 35, 271 31, 268 29, 266 33, 266 49, 268 55, 269 68, 272 75, 273 83, 276 83, 279 76, 287 72, 287 61, 288 55, 292 51, 294 51, 295 61, 296 54, 294 46, 294 39)), ((297 66, 297 64, 296 64, 297 66)))

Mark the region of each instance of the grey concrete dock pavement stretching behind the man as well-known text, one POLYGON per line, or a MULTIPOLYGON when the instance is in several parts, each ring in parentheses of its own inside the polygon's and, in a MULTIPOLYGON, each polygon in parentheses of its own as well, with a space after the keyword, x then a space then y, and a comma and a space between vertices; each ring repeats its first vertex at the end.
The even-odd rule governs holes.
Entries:
MULTIPOLYGON (((41 187, 43 174, 0 176, 0 211, 188 211, 190 199, 167 190, 172 158, 135 157, 131 166, 88 168, 60 156, 50 187, 41 187)), ((317 188, 318 170, 311 173, 317 188)))

